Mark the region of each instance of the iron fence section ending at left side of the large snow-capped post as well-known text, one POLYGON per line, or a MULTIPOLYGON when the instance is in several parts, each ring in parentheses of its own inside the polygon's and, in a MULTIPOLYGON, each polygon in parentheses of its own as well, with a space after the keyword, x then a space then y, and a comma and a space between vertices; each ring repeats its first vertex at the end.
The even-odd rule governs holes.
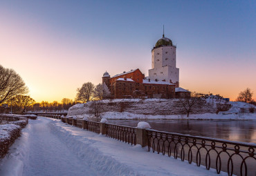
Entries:
POLYGON ((118 139, 125 143, 136 145, 136 128, 130 126, 120 126, 105 124, 106 137, 118 139))

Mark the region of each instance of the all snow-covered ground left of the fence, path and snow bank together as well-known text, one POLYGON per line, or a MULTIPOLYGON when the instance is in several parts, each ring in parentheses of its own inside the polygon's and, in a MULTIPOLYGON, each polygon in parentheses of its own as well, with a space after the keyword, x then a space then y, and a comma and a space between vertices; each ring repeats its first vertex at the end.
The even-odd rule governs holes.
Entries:
MULTIPOLYGON (((147 148, 131 146, 57 119, 30 120, 0 164, 0 175, 217 175, 147 148)), ((226 175, 226 173, 222 173, 226 175)))

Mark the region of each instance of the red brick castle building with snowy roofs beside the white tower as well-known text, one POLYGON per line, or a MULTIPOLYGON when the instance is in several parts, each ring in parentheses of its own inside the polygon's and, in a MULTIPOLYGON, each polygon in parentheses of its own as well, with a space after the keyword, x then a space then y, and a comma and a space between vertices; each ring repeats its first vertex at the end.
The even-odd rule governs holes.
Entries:
POLYGON ((137 98, 137 97, 159 97, 174 98, 175 84, 167 81, 145 79, 145 75, 139 69, 110 77, 105 72, 102 83, 106 84, 114 99, 137 98))

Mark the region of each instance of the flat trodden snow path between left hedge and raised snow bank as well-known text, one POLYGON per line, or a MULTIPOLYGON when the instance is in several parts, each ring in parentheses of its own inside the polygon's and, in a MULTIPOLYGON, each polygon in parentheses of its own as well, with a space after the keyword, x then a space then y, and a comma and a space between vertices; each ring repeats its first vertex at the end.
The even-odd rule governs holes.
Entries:
POLYGON ((47 123, 51 119, 31 121, 28 162, 23 175, 97 175, 87 162, 81 162, 71 150, 56 137, 47 123))

